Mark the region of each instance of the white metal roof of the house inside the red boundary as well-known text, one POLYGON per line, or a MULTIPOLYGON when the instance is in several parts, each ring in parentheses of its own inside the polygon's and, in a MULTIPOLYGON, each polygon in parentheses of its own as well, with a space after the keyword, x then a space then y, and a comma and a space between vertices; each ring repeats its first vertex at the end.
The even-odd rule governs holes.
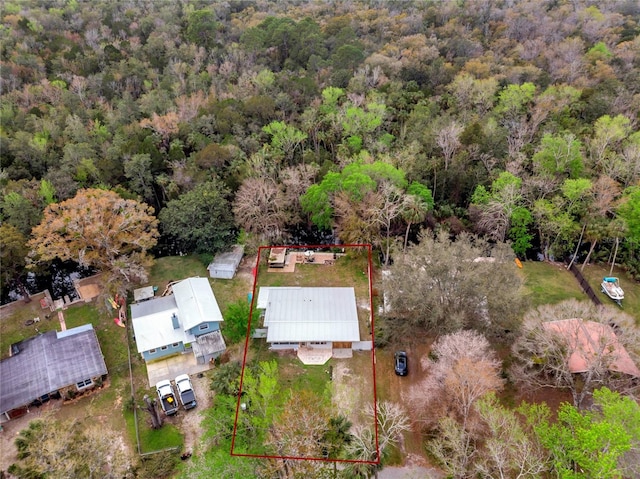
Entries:
POLYGON ((353 288, 269 288, 267 342, 360 341, 353 288))

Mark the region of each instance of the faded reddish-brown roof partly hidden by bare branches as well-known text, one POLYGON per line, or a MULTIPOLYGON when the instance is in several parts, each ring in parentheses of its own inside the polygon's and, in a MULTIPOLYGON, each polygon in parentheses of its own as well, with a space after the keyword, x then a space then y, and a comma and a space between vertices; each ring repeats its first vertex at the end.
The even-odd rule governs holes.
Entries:
POLYGON ((609 364, 611 371, 640 377, 640 369, 620 343, 611 326, 574 318, 549 321, 543 323, 543 327, 566 339, 569 346, 569 371, 572 373, 587 371, 590 363, 596 359, 598 350, 604 349, 612 359, 609 364))

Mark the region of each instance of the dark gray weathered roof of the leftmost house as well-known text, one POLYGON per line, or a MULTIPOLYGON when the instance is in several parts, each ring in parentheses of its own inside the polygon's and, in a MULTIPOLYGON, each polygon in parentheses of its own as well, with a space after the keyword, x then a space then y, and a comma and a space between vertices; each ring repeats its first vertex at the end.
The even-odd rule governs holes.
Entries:
POLYGON ((0 413, 50 392, 107 374, 90 324, 48 331, 17 344, 19 353, 0 361, 0 413))

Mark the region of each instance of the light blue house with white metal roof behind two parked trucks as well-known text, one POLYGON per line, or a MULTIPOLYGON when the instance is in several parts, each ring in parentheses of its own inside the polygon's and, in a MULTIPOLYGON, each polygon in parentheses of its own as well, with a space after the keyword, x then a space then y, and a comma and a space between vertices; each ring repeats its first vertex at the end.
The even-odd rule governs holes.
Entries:
POLYGON ((209 280, 188 278, 171 291, 131 305, 136 346, 144 360, 192 352, 198 364, 206 364, 222 354, 223 318, 209 280))

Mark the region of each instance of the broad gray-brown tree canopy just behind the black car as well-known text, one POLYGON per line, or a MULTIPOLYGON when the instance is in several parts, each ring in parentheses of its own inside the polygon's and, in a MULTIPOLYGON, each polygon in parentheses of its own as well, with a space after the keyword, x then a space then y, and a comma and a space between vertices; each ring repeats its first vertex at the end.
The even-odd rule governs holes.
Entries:
POLYGON ((397 337, 416 327, 514 331, 522 279, 513 258, 504 244, 466 234, 451 240, 445 231, 424 233, 383 280, 385 328, 397 337))

